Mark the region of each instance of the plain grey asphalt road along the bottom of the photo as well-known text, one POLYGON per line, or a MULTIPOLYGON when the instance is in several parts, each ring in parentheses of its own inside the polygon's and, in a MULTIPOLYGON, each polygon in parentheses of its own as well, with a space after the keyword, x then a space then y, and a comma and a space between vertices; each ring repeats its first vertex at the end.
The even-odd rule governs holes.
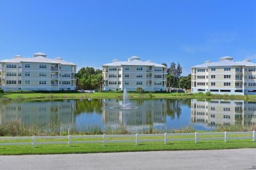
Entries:
POLYGON ((0 156, 0 169, 256 169, 256 149, 0 156))

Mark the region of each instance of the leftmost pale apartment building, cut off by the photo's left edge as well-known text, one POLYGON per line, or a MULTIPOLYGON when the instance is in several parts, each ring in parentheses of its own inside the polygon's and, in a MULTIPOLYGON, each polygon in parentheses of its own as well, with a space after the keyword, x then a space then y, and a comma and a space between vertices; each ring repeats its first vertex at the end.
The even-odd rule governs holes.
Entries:
POLYGON ((75 90, 76 64, 46 54, 35 53, 0 61, 0 87, 4 91, 17 90, 75 90))

